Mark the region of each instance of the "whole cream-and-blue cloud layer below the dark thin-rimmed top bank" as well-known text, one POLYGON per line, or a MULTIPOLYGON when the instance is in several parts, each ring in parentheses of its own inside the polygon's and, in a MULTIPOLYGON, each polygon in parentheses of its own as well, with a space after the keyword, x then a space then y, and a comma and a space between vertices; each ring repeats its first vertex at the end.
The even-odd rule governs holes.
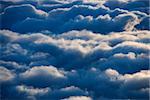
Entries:
POLYGON ((148 98, 149 31, 0 37, 2 98, 148 98))

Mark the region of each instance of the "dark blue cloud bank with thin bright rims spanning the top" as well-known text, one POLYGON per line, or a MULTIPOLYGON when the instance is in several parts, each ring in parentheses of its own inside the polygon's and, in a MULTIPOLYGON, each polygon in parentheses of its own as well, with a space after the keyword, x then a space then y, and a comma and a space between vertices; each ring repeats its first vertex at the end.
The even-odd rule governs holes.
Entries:
POLYGON ((81 1, 57 5, 50 3, 47 8, 40 7, 36 3, 22 3, 4 9, 0 15, 3 23, 1 28, 19 33, 49 30, 52 33, 60 34, 71 30, 87 29, 108 34, 110 32, 148 29, 145 24, 145 26, 142 24, 145 17, 148 16, 146 13, 137 10, 128 11, 128 9, 122 8, 109 9, 103 3, 81 1), (21 15, 20 12, 24 14, 21 15), (15 14, 12 16, 10 13, 15 14), (9 21, 9 18, 13 20, 9 21), (139 26, 135 27, 137 24, 139 26), (141 28, 141 26, 144 28, 141 28))

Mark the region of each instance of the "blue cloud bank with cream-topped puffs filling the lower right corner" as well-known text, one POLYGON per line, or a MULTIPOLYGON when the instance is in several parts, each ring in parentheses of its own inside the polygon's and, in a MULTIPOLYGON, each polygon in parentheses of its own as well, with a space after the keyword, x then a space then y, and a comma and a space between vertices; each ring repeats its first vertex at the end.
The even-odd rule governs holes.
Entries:
POLYGON ((73 71, 69 74, 69 79, 71 84, 86 88, 88 91, 91 91, 91 93, 93 91, 95 98, 135 99, 148 97, 148 75, 149 71, 146 70, 135 74, 122 75, 112 69, 107 69, 104 72, 101 72, 98 69, 92 68, 91 70, 86 71, 73 71), (131 83, 130 80, 132 80, 131 83), (128 89, 126 86, 129 86, 128 89))

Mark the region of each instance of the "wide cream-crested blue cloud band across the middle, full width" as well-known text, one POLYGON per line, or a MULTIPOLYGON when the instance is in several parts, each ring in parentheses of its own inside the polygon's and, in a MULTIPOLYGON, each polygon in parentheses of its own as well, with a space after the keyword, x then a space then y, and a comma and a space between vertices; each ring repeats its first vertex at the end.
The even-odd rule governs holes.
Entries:
POLYGON ((67 70, 93 66, 114 68, 121 73, 148 69, 148 31, 101 35, 84 30, 52 36, 2 31, 1 36, 7 36, 5 40, 9 41, 2 47, 2 65, 11 61, 19 66, 53 65, 67 70))

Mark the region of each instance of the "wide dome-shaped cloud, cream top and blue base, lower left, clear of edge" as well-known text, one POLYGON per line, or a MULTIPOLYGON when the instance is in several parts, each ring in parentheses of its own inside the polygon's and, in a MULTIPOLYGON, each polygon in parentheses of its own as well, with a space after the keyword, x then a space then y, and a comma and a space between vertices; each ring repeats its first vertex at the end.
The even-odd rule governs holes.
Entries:
POLYGON ((63 72, 52 66, 33 67, 22 73, 20 78, 25 84, 39 87, 56 85, 65 80, 63 72))

